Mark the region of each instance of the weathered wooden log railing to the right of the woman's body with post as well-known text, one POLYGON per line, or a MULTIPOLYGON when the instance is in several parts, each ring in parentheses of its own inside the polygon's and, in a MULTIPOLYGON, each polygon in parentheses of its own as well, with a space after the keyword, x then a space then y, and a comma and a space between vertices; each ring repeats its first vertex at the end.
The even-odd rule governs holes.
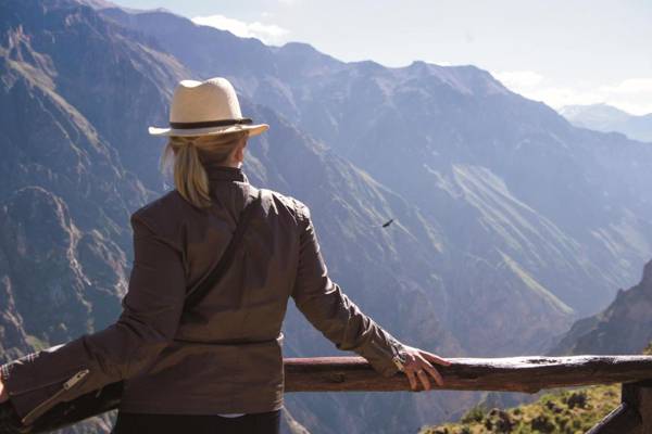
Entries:
MULTIPOLYGON (((432 391, 536 393, 544 388, 623 384, 622 404, 590 434, 652 434, 652 356, 574 356, 449 359, 437 367, 443 387, 432 391)), ((379 375, 361 357, 285 359, 286 392, 411 391, 399 373, 379 375)))

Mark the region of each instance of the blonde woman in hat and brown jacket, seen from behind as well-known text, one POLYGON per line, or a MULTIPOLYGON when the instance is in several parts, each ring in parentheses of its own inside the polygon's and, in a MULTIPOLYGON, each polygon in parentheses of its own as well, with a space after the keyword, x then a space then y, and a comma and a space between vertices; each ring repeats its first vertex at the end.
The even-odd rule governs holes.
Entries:
POLYGON ((430 362, 365 316, 327 276, 309 208, 256 189, 241 170, 249 137, 268 128, 243 118, 228 80, 184 80, 174 92, 164 161, 175 189, 131 216, 134 268, 111 327, 1 368, 0 400, 25 423, 55 404, 125 380, 115 433, 277 433, 283 405, 280 332, 292 297, 335 345, 386 376, 402 370, 424 390, 430 362), (249 226, 233 261, 190 305, 224 254, 243 209, 249 226))

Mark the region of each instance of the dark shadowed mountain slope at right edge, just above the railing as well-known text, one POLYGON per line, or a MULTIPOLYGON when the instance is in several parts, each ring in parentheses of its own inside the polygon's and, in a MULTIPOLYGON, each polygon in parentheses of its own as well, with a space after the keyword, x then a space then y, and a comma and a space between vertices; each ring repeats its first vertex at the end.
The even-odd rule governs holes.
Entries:
POLYGON ((551 354, 640 354, 652 341, 652 260, 641 281, 601 312, 573 324, 551 354))

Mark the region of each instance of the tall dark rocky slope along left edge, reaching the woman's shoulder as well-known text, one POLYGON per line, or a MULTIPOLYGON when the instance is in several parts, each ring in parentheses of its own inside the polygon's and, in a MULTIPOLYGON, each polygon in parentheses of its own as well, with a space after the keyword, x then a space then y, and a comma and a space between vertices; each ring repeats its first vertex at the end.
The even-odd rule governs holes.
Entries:
MULTIPOLYGON (((54 344, 105 324, 118 312, 128 217, 148 194, 124 170, 115 150, 54 91, 50 59, 34 51, 22 27, 13 30, 0 48, 0 201, 7 203, 0 247, 15 318, 28 335, 54 344), (51 226, 38 221, 48 209, 59 216, 51 226), (36 232, 27 239, 21 228, 29 222, 36 232), (57 260, 62 263, 54 267, 57 260), (48 292, 60 303, 47 302, 48 292)), ((25 349, 29 342, 23 339, 15 347, 25 349)))

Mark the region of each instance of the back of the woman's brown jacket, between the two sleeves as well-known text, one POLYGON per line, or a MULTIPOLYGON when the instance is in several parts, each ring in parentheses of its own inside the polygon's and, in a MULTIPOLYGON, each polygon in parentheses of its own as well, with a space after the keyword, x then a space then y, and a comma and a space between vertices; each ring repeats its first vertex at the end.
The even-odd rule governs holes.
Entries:
MULTIPOLYGON (((134 214, 134 220, 178 252, 184 271, 180 280, 178 265, 158 265, 159 276, 142 276, 142 284, 154 279, 162 288, 197 284, 224 253, 244 205, 259 194, 239 168, 206 166, 206 173, 213 207, 199 210, 175 190, 134 214)), ((231 266, 201 303, 184 309, 171 345, 126 383, 122 410, 210 414, 280 408, 280 329, 297 275, 304 216, 298 201, 271 190, 261 193, 231 266), (165 393, 171 388, 174 395, 165 393)), ((146 252, 135 263, 156 260, 155 247, 146 252)))

